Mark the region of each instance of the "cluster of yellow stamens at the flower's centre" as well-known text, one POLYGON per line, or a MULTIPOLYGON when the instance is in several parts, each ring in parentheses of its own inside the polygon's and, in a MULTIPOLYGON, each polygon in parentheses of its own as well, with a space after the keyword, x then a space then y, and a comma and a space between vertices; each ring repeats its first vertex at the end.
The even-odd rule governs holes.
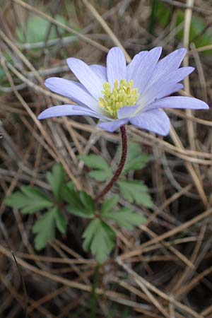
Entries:
POLYGON ((103 84, 103 98, 99 99, 100 107, 104 108, 112 118, 117 118, 117 112, 120 108, 136 105, 140 94, 138 88, 132 88, 134 81, 127 82, 125 79, 114 81, 113 89, 110 88, 110 83, 103 84))

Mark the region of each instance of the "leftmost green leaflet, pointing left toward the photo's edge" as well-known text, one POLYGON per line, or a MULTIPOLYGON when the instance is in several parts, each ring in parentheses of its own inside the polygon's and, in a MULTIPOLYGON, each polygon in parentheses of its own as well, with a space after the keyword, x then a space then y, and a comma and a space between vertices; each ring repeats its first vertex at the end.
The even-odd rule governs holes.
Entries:
POLYGON ((35 213, 54 205, 39 189, 28 186, 20 187, 20 192, 14 192, 4 202, 12 208, 20 209, 23 214, 35 213))

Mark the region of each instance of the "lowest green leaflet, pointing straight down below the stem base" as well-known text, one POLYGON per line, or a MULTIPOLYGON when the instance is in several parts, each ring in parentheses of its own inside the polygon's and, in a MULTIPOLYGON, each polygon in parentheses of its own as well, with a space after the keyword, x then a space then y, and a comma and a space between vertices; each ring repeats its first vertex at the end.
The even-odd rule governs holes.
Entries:
POLYGON ((102 263, 114 247, 115 233, 104 221, 95 218, 83 232, 83 249, 92 252, 102 263))

